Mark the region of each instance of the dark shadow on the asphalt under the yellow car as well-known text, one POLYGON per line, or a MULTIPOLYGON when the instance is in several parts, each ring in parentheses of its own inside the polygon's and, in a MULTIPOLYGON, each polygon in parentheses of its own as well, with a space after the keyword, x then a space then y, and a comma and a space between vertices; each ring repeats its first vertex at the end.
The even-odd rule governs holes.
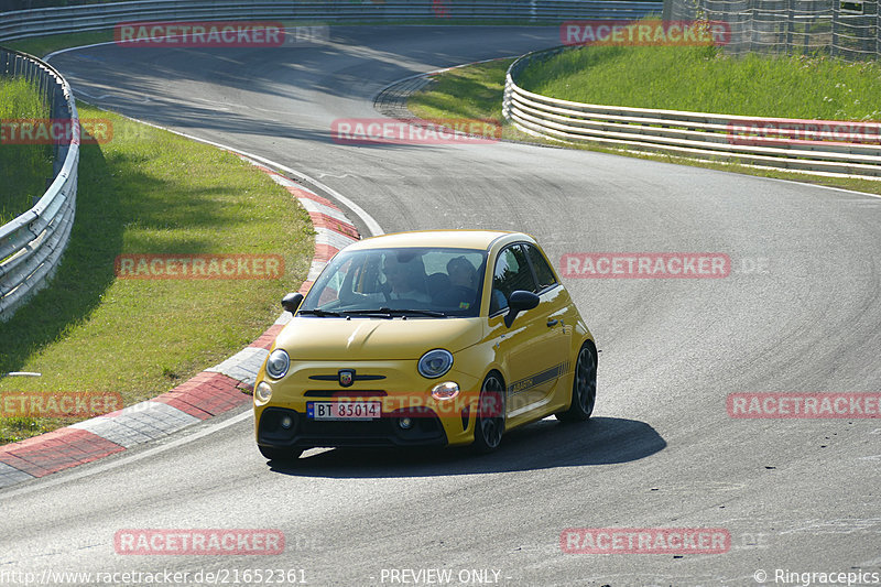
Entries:
POLYGON ((306 453, 295 463, 271 460, 269 465, 274 472, 298 477, 433 477, 629 463, 665 447, 666 442, 644 422, 594 417, 563 424, 548 417, 505 434, 491 455, 475 455, 467 447, 336 448, 306 453))

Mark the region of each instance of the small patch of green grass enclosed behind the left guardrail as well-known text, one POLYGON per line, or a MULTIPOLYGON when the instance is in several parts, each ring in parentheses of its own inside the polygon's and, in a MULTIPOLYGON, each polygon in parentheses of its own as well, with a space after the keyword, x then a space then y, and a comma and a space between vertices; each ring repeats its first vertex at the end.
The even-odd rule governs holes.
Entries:
MULTIPOLYGON (((24 79, 0 79, 0 124, 48 117, 36 87, 24 79)), ((52 177, 52 146, 3 144, 0 139, 0 225, 29 210, 52 177)))

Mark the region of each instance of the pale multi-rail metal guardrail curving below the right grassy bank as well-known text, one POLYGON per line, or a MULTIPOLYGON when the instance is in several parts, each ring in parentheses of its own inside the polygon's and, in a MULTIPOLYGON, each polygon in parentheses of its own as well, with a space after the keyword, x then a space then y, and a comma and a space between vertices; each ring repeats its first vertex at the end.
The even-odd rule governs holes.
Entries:
MULTIPOLYGON (((863 141, 827 140, 835 133, 812 131, 822 121, 624 108, 559 100, 527 91, 514 78, 530 63, 566 47, 539 51, 511 64, 502 112, 520 130, 566 142, 722 160, 768 169, 881 178, 881 124, 859 126, 863 141), (776 129, 762 135, 750 129, 776 129), (781 138, 780 135, 787 135, 781 138)), ((828 130, 828 129, 827 129, 828 130)), ((835 129, 833 129, 834 131, 835 129)), ((841 134, 847 135, 847 130, 841 134)), ((849 134, 853 137, 853 132, 849 134)))

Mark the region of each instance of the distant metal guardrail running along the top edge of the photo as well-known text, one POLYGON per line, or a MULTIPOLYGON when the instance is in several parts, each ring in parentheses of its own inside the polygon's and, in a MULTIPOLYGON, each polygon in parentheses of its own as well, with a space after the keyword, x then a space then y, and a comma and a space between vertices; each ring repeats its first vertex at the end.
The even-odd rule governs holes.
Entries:
POLYGON ((559 23, 566 19, 639 19, 661 13, 662 1, 603 0, 141 0, 45 8, 0 13, 0 41, 43 34, 108 29, 121 22, 151 20, 282 19, 346 23, 356 21, 424 21, 463 23, 475 20, 522 20, 559 23))

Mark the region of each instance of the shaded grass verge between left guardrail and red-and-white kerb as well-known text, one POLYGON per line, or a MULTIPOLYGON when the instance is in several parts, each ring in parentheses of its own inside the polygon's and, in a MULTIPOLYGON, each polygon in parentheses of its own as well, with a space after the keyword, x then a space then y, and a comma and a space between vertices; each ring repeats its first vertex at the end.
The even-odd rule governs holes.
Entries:
MULTIPOLYGON (((308 215, 231 153, 79 105, 113 139, 84 145, 76 222, 51 285, 0 323, 0 392, 120 392, 153 398, 257 338, 305 279, 308 215), (120 280, 122 253, 278 253, 281 280, 120 280)), ((0 420, 0 443, 68 420, 0 420)))

